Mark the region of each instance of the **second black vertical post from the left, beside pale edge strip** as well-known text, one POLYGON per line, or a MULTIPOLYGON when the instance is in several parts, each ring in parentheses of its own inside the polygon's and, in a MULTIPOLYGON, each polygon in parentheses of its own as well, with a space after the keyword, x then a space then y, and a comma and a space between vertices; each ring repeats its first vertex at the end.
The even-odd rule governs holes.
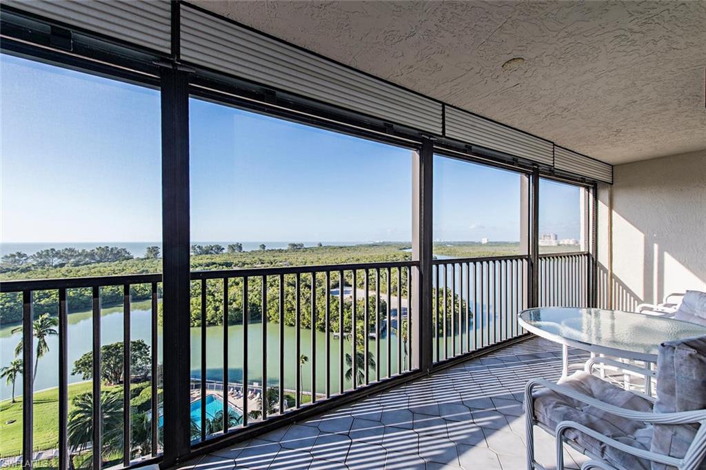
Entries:
POLYGON ((412 367, 424 372, 431 370, 431 265, 432 259, 432 196, 433 196, 433 141, 424 139, 421 148, 412 153, 412 259, 419 269, 412 271, 414 293, 412 324, 417 328, 412 335, 412 367))

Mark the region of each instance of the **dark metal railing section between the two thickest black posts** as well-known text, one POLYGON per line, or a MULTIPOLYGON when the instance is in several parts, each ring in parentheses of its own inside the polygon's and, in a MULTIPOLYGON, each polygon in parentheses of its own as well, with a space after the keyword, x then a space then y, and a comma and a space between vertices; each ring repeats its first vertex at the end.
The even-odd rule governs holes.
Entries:
MULTIPOLYGON (((238 397, 222 393, 222 418, 213 435, 246 428, 254 421, 266 421, 288 411, 311 406, 325 399, 342 395, 361 386, 379 382, 412 370, 412 271, 417 262, 382 262, 338 264, 330 266, 296 266, 266 269, 232 269, 228 271, 195 271, 192 282, 198 283, 201 295, 201 396, 206 396, 207 384, 207 308, 208 298, 219 298, 222 324, 239 325, 241 341, 237 344, 241 361, 241 384, 238 397), (265 288, 263 288, 265 286, 265 288), (230 313, 237 308, 236 322, 230 313), (240 317, 240 319, 237 319, 240 317), (278 324, 276 335, 268 334, 268 323, 278 324), (260 348, 249 344, 253 336, 249 327, 260 329, 260 348), (294 327, 294 351, 285 354, 285 328, 294 327), (311 351, 309 384, 304 384, 301 358, 304 351, 302 333, 308 334, 307 351, 311 351), (323 358, 317 353, 323 333, 323 358), (385 339, 383 347, 382 338, 385 339), (273 341, 274 339, 274 341, 273 341), (348 344, 346 344, 348 342, 348 344), (334 344, 337 343, 337 344, 334 344), (337 346, 332 351, 332 346, 337 346), (277 354, 275 380, 271 380, 270 349, 277 354), (260 370, 251 370, 251 355, 258 354, 260 370), (384 358, 384 362, 382 362, 384 358), (395 358, 395 360, 393 360, 395 358), (317 364, 323 360, 323 377, 318 377, 317 364), (294 368, 294 380, 287 384, 285 363, 294 368), (383 372, 384 366, 384 372, 383 372), (362 370, 361 370, 362 369, 362 370), (251 384, 257 380, 260 393, 251 397, 251 384), (294 406, 288 407, 287 391, 294 406), (290 394, 292 395, 292 394, 290 394), (310 399, 303 403, 304 396, 310 399), (228 421, 230 401, 238 400, 237 412, 242 419, 237 425, 228 421), (258 401, 258 409, 250 409, 258 401), (238 406, 239 405, 239 406, 238 406)), ((290 330, 291 332, 291 330, 290 330)), ((223 328, 222 389, 228 390, 230 380, 229 329, 223 328)), ((200 434, 202 442, 207 432, 207 406, 201 400, 200 434)))

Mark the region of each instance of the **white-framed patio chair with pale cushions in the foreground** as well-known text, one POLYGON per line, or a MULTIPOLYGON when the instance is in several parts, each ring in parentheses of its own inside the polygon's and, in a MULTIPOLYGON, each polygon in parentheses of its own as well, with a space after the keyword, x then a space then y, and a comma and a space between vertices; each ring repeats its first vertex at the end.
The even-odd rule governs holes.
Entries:
POLYGON ((659 346, 657 399, 575 372, 527 382, 525 419, 528 470, 544 469, 535 425, 556 435, 557 469, 566 442, 592 459, 586 469, 706 470, 706 336, 659 346))

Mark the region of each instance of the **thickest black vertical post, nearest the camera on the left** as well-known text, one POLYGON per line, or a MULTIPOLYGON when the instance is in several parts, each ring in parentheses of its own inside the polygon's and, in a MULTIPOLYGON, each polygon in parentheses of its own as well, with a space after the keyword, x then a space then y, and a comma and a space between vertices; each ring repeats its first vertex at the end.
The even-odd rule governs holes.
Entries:
MULTIPOLYGON (((162 86, 162 292, 164 465, 189 453, 189 79, 164 67, 162 86)), ((153 347, 156 345, 152 345, 153 347)))

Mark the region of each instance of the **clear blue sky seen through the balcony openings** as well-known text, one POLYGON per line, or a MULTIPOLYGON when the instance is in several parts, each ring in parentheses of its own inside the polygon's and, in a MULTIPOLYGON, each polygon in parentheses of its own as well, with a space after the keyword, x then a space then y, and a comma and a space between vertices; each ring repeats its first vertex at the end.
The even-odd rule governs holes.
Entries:
MULTIPOLYGON (((0 242, 161 238, 160 96, 1 55, 0 242)), ((191 240, 412 239, 412 153, 190 101, 191 240)), ((517 241, 520 177, 437 156, 434 238, 517 241)), ((578 238, 578 189, 543 182, 540 232, 578 238)))

